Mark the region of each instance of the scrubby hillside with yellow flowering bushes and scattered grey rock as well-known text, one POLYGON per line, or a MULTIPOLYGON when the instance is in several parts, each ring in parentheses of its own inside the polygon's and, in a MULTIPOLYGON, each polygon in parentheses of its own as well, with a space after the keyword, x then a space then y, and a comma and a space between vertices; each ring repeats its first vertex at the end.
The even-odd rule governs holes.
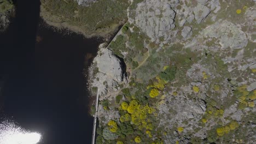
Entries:
MULTIPOLYGON (((131 19, 141 0, 133 2, 131 19)), ((223 3, 222 8, 232 7, 213 15, 229 19, 234 25, 242 24, 246 10, 251 9, 251 2, 223 3)), ((184 3, 179 4, 183 9, 184 3)), ((129 83, 117 92, 117 97, 108 99, 106 113, 115 111, 117 116, 103 117, 100 123, 110 132, 108 123, 117 123, 117 131, 112 131, 117 138, 104 139, 101 130, 99 143, 248 143, 248 137, 252 142, 256 90, 249 89, 254 87, 250 84, 256 70, 249 63, 254 59, 254 43, 235 50, 223 48, 220 38, 205 43, 209 38, 202 35, 202 28, 218 21, 211 18, 200 24, 195 20, 185 23, 193 29, 193 40, 185 41, 179 34, 183 27, 178 27, 176 19, 178 40, 167 44, 164 37, 151 41, 137 24, 126 23, 109 48, 124 59, 129 83), (234 60, 237 57, 241 61, 234 60)))

